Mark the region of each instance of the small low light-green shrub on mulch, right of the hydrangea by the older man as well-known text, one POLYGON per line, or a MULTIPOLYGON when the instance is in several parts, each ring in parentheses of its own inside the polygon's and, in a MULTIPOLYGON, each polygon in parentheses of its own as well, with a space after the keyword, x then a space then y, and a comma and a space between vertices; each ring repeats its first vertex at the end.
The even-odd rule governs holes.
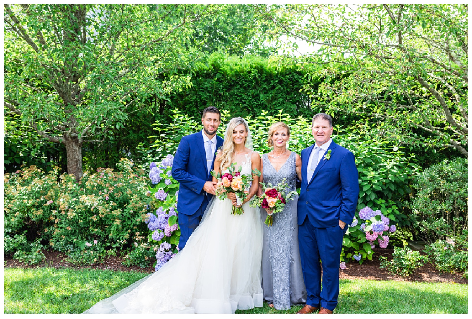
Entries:
POLYGON ((392 275, 410 276, 414 269, 423 266, 428 261, 427 256, 421 256, 419 251, 408 247, 395 247, 392 256, 392 261, 388 261, 387 257, 379 258, 380 268, 387 268, 392 275))

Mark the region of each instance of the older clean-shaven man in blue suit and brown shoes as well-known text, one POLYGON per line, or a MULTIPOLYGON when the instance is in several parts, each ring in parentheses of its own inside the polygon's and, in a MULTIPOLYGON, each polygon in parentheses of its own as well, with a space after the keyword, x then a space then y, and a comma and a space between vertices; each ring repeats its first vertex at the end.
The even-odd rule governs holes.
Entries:
POLYGON ((333 313, 339 294, 339 258, 347 224, 359 196, 354 155, 331 139, 331 117, 312 120, 316 143, 302 151, 302 186, 298 198, 298 242, 306 305, 298 313, 333 313), (321 264, 320 264, 321 260, 321 264), (321 265, 323 289, 321 290, 321 265))

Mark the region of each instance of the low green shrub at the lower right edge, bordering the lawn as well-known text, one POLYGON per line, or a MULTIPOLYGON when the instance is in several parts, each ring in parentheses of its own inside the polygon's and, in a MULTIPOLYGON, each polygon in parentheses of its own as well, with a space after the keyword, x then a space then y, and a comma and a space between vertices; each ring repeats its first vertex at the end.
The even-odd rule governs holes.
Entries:
POLYGON ((441 273, 467 271, 467 248, 460 242, 466 244, 467 240, 466 238, 438 240, 427 245, 424 252, 428 254, 430 262, 441 273))

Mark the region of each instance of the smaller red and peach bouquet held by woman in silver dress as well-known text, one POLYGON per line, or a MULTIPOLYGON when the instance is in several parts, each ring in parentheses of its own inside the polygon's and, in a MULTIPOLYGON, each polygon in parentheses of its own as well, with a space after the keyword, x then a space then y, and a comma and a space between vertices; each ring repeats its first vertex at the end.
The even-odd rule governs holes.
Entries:
POLYGON ((286 192, 288 188, 287 180, 284 178, 277 186, 273 187, 271 183, 262 183, 262 196, 254 198, 251 202, 251 207, 261 206, 262 208, 269 208, 265 224, 272 226, 273 214, 280 213, 284 210, 286 200, 296 194, 295 190, 286 192))

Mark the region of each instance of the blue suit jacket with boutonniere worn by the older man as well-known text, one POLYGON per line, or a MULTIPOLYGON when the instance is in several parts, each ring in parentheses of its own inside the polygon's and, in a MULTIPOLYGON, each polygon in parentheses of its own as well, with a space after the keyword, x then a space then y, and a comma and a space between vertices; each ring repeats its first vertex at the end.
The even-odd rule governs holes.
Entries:
POLYGON ((298 198, 298 224, 308 216, 313 226, 326 228, 336 226, 338 220, 351 224, 359 197, 359 176, 354 154, 333 141, 329 160, 323 158, 307 181, 308 160, 314 144, 302 151, 302 186, 298 198))

